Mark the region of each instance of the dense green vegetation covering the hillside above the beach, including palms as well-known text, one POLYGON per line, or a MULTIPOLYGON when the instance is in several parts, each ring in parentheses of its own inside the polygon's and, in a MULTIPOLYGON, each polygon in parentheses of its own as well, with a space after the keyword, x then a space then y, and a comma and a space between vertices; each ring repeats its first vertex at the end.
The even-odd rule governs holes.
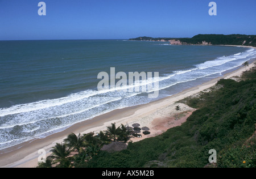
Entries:
MULTIPOLYGON (((90 135, 85 144, 81 144, 80 137, 71 136, 72 142, 67 139, 67 144, 57 144, 53 148, 53 164, 47 158, 47 163, 39 166, 52 167, 57 163, 56 167, 87 168, 212 167, 208 165, 208 152, 214 149, 217 151, 217 164, 213 167, 256 167, 255 67, 246 71, 240 82, 221 79, 215 90, 202 92, 199 97, 189 97, 183 102, 198 110, 183 125, 171 128, 162 135, 129 142, 127 149, 119 152, 98 149, 97 152, 89 152, 89 146, 100 147, 106 140, 107 143, 110 139, 126 140, 116 133, 115 126, 109 126, 107 132, 101 135, 90 135), (68 144, 72 144, 69 150, 80 151, 76 157, 68 155, 67 146, 64 146, 68 144)), ((120 133, 122 130, 127 132, 118 127, 120 133)))

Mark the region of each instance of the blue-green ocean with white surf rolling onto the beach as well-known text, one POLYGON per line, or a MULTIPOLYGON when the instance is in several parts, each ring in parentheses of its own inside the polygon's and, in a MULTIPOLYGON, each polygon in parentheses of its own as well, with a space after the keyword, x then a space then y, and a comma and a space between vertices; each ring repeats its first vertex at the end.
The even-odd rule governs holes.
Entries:
POLYGON ((174 95, 255 57, 256 49, 234 46, 127 40, 0 41, 0 150, 114 109, 174 95), (158 97, 149 98, 149 91, 98 91, 98 74, 110 74, 111 67, 127 76, 136 71, 158 72, 159 78, 154 79, 159 84, 158 97))

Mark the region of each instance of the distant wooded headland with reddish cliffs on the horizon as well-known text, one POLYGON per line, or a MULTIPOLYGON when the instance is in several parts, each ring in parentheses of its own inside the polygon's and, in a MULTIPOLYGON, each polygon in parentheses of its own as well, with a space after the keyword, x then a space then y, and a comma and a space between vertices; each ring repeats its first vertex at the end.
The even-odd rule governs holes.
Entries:
POLYGON ((153 38, 137 37, 136 41, 161 41, 170 42, 171 45, 242 45, 256 47, 256 35, 217 35, 217 34, 199 34, 192 38, 153 38))

